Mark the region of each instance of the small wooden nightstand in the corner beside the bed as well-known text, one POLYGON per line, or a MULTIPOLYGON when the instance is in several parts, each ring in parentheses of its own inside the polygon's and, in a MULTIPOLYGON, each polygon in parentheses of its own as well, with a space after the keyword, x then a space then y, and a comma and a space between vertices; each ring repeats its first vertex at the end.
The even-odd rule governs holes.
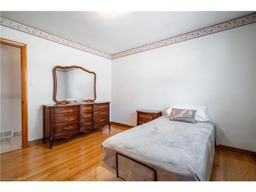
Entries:
POLYGON ((156 110, 137 110, 137 126, 150 122, 162 115, 161 111, 156 110))

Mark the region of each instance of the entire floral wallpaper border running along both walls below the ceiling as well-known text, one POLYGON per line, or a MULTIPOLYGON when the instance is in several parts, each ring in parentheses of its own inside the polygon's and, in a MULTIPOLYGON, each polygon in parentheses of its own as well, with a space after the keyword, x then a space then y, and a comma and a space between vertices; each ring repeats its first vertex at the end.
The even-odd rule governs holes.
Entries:
POLYGON ((196 31, 193 31, 193 32, 189 32, 189 33, 185 33, 185 34, 182 34, 182 35, 179 35, 179 36, 171 37, 171 38, 161 40, 161 41, 158 41, 158 42, 154 42, 153 44, 148 44, 148 45, 141 46, 141 47, 138 47, 138 48, 135 48, 135 49, 131 49, 131 50, 127 50, 127 51, 123 51, 123 52, 120 52, 120 53, 110 55, 110 54, 103 53, 101 51, 89 48, 87 46, 77 44, 76 42, 73 42, 73 41, 55 36, 53 34, 46 33, 44 31, 29 27, 29 26, 26 26, 26 25, 23 25, 23 24, 20 24, 20 23, 17 23, 17 22, 14 22, 13 20, 10 20, 10 19, 4 18, 4 17, 0 17, 0 25, 6 26, 6 27, 9 27, 9 28, 13 28, 13 29, 16 29, 16 30, 19 30, 19 31, 23 31, 23 32, 26 32, 26 33, 29 33, 29 34, 32 34, 32 35, 35 35, 35 36, 39 36, 39 37, 42 37, 42 38, 45 38, 45 39, 48 39, 48 40, 52 40, 52 41, 58 42, 59 44, 66 45, 66 46, 69 46, 69 47, 73 47, 73 48, 76 48, 76 49, 79 49, 79 50, 82 50, 82 51, 86 51, 88 53, 92 53, 92 54, 95 54, 95 55, 99 55, 99 56, 102 56, 102 57, 105 57, 105 58, 108 58, 108 59, 116 59, 116 58, 119 58, 119 57, 124 57, 124 56, 127 56, 127 55, 132 55, 132 54, 135 54, 135 53, 140 53, 140 52, 143 52, 143 51, 148 51, 148 50, 151 50, 151 49, 156 49, 156 48, 160 48, 160 47, 163 47, 163 46, 176 44, 177 42, 182 42, 184 40, 189 40, 189 39, 209 35, 209 34, 212 34, 212 33, 221 32, 221 31, 224 31, 224 30, 233 29, 233 28, 236 28, 236 27, 241 27, 241 26, 252 24, 252 23, 255 23, 255 22, 256 22, 256 13, 253 13, 253 14, 246 15, 246 16, 243 16, 243 17, 240 17, 240 18, 229 20, 229 21, 221 23, 221 24, 206 27, 206 28, 203 28, 203 29, 199 29, 199 30, 196 30, 196 31))

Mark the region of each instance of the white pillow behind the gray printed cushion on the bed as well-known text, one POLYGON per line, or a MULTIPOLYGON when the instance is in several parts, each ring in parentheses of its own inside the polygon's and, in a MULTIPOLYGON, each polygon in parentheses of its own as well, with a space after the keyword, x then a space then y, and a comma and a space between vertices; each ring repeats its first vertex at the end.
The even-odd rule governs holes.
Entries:
POLYGON ((178 109, 186 109, 186 110, 197 110, 196 115, 195 115, 195 120, 196 121, 207 121, 208 116, 206 114, 206 106, 195 106, 195 105, 185 105, 185 104, 175 104, 171 106, 169 109, 166 110, 167 114, 170 115, 172 114, 172 109, 173 108, 178 108, 178 109))

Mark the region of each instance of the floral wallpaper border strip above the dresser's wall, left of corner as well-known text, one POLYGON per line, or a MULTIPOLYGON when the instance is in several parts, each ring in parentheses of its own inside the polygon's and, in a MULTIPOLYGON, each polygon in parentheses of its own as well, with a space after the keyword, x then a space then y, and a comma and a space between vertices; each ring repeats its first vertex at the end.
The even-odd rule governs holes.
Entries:
POLYGON ((32 35, 35 35, 35 36, 38 36, 38 37, 42 37, 42 38, 45 38, 45 39, 48 39, 48 40, 52 40, 54 42, 58 42, 59 44, 62 44, 62 45, 66 45, 66 46, 69 46, 69 47, 72 47, 72 48, 76 48, 76 49, 80 49, 82 51, 86 51, 88 53, 93 53, 95 55, 99 55, 99 56, 111 59, 110 54, 103 53, 101 51, 92 49, 90 47, 77 44, 76 42, 73 42, 73 41, 55 36, 55 35, 50 34, 50 33, 46 33, 44 31, 29 27, 27 25, 23 25, 23 24, 14 22, 13 20, 10 20, 10 19, 4 18, 4 17, 0 17, 0 25, 6 26, 6 27, 9 27, 9 28, 13 28, 13 29, 16 29, 18 31, 23 31, 23 32, 26 32, 26 33, 29 33, 29 34, 32 34, 32 35))

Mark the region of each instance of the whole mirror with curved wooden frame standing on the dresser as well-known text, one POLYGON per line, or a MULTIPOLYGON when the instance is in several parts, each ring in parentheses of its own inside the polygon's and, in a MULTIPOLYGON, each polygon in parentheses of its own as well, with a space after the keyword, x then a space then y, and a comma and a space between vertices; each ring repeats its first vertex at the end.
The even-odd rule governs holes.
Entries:
MULTIPOLYGON (((93 102, 96 99, 96 74, 79 66, 56 66, 54 95, 56 103, 68 103, 69 99, 93 102)), ((77 102, 77 101, 76 101, 77 102)))

